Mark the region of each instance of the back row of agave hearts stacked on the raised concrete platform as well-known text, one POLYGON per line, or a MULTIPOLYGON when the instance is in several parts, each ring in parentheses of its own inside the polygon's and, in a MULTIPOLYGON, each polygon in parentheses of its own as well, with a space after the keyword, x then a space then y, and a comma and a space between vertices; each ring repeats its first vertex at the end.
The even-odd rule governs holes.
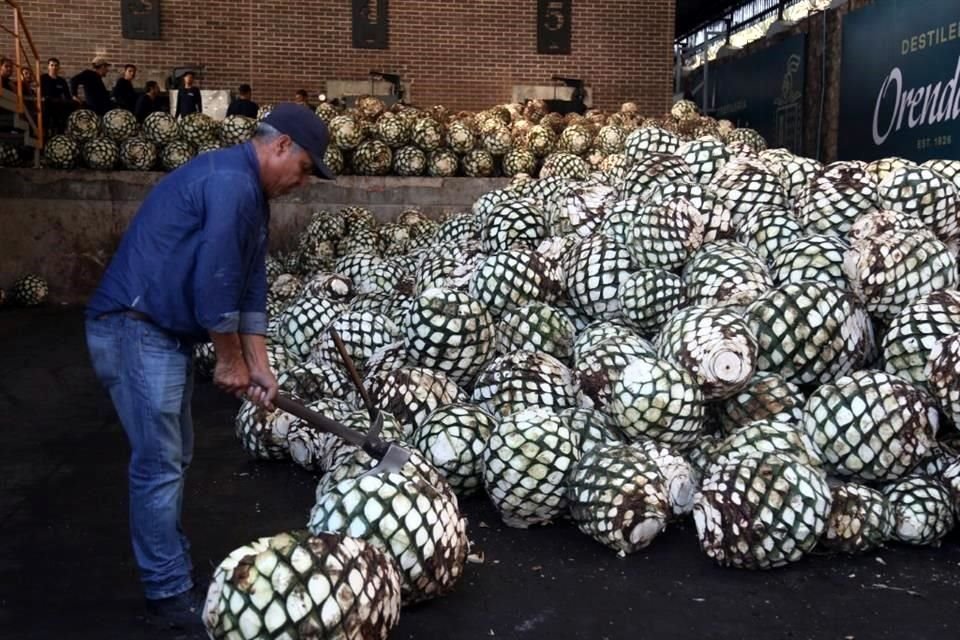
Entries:
MULTIPOLYGON (((175 119, 154 113, 143 124, 125 109, 102 118, 81 109, 71 114, 64 134, 47 142, 44 163, 57 169, 172 171, 197 154, 248 140, 271 109, 262 107, 257 119, 216 120, 201 113, 175 119)), ((632 102, 613 113, 591 109, 560 116, 548 112, 542 100, 452 112, 442 105, 388 109, 381 100, 364 96, 350 109, 324 102, 316 115, 330 129, 326 163, 339 175, 561 174, 583 179, 593 170, 623 164, 627 139, 641 128, 656 127, 685 139, 709 135, 731 144, 758 140, 750 129, 700 116, 687 102, 662 117, 645 118, 632 102)), ((0 166, 17 163, 16 149, 0 145, 0 166)))

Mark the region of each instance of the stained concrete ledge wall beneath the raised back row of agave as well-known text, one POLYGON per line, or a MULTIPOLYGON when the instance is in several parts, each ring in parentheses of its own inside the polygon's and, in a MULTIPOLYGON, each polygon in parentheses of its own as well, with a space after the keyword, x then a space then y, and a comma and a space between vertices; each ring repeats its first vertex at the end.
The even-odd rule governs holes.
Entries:
MULTIPOLYGON (((124 230, 165 174, 0 169, 0 287, 35 272, 55 302, 82 302, 96 286, 124 230)), ((469 210, 506 178, 342 177, 311 179, 271 203, 271 244, 286 248, 318 209, 359 205, 382 221, 408 207, 428 214, 469 210)))

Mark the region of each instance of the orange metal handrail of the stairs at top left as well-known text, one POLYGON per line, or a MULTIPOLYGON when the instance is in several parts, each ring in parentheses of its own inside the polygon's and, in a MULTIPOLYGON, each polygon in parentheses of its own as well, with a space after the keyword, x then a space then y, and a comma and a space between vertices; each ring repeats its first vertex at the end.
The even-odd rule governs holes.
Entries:
POLYGON ((12 84, 15 87, 15 97, 11 100, 11 96, 5 95, 10 93, 10 91, 0 85, 0 104, 9 107, 12 102, 12 110, 18 119, 17 124, 19 125, 20 121, 22 121, 27 127, 24 134, 24 142, 27 146, 34 147, 39 151, 39 149, 43 148, 44 143, 40 53, 37 51, 33 37, 30 35, 30 30, 24 21, 23 11, 20 5, 14 0, 2 0, 2 2, 9 6, 13 13, 13 27, 11 28, 0 23, 0 30, 13 36, 13 68, 15 78, 12 80, 12 84), (22 69, 30 69, 33 72, 33 87, 29 91, 32 95, 25 95, 22 69), (4 98, 6 98, 6 100, 4 100, 4 98), (30 105, 33 105, 32 109, 30 105))

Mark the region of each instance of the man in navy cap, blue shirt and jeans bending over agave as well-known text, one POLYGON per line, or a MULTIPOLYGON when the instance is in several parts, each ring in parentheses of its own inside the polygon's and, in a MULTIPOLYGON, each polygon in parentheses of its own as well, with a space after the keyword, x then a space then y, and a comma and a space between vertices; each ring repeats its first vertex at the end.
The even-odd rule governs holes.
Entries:
POLYGON ((193 345, 210 339, 214 382, 272 407, 265 259, 270 198, 323 163, 328 131, 302 107, 278 105, 251 142, 204 153, 161 180, 124 234, 87 306, 87 345, 130 441, 130 533, 148 612, 198 628, 180 523, 193 453, 193 345))

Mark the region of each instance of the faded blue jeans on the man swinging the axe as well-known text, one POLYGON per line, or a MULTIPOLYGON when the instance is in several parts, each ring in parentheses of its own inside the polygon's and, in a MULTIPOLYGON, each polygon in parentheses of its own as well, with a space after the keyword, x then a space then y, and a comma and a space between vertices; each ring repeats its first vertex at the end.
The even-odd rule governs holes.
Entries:
POLYGON ((193 457, 193 346, 123 313, 87 320, 87 348, 130 441, 130 536, 148 599, 193 586, 180 513, 193 457))

